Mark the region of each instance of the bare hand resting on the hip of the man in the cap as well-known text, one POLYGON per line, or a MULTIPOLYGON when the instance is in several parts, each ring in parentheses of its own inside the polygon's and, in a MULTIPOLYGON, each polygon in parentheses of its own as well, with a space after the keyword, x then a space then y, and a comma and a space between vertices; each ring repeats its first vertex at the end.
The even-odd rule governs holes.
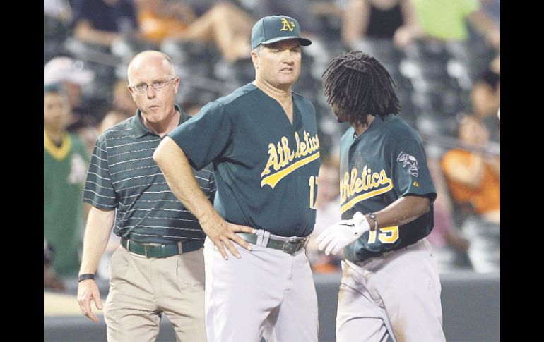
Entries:
POLYGON ((232 241, 241 245, 246 250, 252 250, 252 246, 249 245, 244 239, 237 236, 237 232, 242 233, 256 233, 254 228, 248 226, 242 226, 240 224, 230 224, 219 216, 216 212, 213 214, 213 218, 206 222, 201 221, 202 230, 206 233, 206 236, 215 243, 219 252, 223 256, 223 259, 228 260, 225 247, 230 250, 230 253, 237 259, 242 257, 238 250, 232 245, 232 241))

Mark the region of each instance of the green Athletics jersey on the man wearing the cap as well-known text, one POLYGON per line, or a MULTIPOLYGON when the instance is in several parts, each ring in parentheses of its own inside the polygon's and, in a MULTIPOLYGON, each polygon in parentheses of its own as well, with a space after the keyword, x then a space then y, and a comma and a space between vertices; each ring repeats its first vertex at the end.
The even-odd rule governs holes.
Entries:
POLYGON ((248 83, 203 106, 169 134, 191 165, 213 162, 214 206, 226 221, 278 236, 307 236, 315 224, 319 139, 315 109, 292 93, 282 106, 248 83))

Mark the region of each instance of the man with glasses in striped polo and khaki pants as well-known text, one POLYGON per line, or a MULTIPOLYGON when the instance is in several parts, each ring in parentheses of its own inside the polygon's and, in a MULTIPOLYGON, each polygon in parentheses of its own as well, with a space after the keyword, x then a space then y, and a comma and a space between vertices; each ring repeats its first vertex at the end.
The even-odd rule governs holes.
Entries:
MULTIPOLYGON (((172 194, 153 152, 161 139, 190 116, 174 103, 179 86, 170 57, 143 51, 128 68, 136 115, 97 139, 83 202, 88 216, 79 272, 78 303, 98 322, 90 302, 102 309, 94 280, 112 228, 121 246, 110 259, 105 305, 108 341, 155 341, 162 314, 177 341, 206 341, 204 259, 199 221, 172 194)), ((211 166, 194 171, 213 202, 211 166)))

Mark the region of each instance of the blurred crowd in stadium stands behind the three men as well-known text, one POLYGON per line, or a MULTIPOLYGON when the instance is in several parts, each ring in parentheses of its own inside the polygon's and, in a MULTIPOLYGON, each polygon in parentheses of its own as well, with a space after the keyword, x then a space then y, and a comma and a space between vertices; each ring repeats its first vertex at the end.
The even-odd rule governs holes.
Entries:
MULTIPOLYGON (((172 57, 177 103, 200 107, 254 80, 249 37, 262 16, 300 21, 295 91, 317 111, 321 171, 312 236, 340 219, 338 125, 321 74, 341 51, 375 56, 398 87, 401 116, 427 149, 438 197, 434 245, 442 271, 500 269, 499 0, 44 0, 44 287, 75 281, 88 159, 106 128, 133 116, 126 67, 139 51, 172 57)), ((108 250, 119 245, 112 236, 108 250)), ((309 243, 315 272, 338 256, 309 243)), ((107 279, 107 257, 99 276, 107 279)))

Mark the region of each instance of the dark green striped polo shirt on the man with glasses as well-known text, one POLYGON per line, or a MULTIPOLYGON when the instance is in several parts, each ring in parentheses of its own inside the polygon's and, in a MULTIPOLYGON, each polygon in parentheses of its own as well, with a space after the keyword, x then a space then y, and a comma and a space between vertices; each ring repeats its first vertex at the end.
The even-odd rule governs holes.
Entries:
MULTIPOLYGON (((189 120, 179 106, 179 124, 189 120)), ((107 129, 91 157, 83 202, 104 210, 117 209, 114 233, 139 243, 172 243, 204 239, 199 221, 172 193, 153 160, 161 138, 143 125, 141 113, 107 129)), ((211 164, 194 170, 203 193, 213 202, 211 164)))

